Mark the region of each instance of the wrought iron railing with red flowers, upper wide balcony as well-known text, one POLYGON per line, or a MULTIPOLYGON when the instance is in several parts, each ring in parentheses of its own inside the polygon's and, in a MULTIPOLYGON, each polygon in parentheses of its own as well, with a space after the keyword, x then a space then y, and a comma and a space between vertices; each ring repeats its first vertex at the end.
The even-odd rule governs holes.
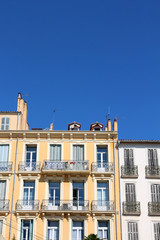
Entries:
POLYGON ((47 161, 43 163, 43 170, 85 171, 89 170, 89 161, 47 161))

